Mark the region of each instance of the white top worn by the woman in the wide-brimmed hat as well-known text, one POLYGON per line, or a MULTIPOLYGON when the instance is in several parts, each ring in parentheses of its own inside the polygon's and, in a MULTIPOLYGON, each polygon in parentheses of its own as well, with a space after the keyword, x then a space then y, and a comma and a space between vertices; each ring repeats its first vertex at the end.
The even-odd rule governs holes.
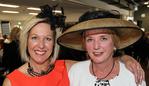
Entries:
MULTIPOLYGON (((69 71, 70 86, 95 86, 96 77, 89 71, 90 63, 90 60, 82 61, 71 67, 69 71)), ((110 86, 137 86, 134 75, 126 69, 123 63, 119 63, 119 75, 109 80, 110 86)), ((145 81, 140 86, 146 86, 145 81)))

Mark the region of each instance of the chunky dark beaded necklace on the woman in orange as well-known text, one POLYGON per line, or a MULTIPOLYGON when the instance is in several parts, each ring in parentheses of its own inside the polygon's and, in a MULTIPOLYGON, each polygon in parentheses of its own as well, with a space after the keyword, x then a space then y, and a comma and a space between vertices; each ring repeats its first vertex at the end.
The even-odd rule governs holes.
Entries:
POLYGON ((31 76, 38 76, 38 77, 40 77, 40 76, 46 75, 46 74, 48 74, 49 72, 51 72, 53 68, 54 68, 54 64, 50 64, 50 66, 49 66, 49 68, 48 68, 47 71, 41 71, 41 73, 38 73, 38 72, 35 72, 35 71, 33 70, 33 67, 31 67, 30 63, 28 63, 27 72, 28 72, 28 74, 31 75, 31 76))

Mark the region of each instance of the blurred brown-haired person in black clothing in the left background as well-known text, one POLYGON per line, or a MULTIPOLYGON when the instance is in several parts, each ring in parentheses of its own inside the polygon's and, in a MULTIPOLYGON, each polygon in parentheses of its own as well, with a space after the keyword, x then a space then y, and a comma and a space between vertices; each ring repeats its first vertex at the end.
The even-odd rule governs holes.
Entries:
POLYGON ((22 64, 18 39, 20 30, 18 27, 12 28, 9 39, 4 40, 2 64, 9 73, 22 64))

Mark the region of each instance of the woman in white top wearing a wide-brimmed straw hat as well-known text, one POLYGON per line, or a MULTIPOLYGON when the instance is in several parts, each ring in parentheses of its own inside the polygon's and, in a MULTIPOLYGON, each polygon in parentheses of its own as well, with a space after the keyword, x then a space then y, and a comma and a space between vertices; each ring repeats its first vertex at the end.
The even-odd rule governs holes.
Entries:
POLYGON ((146 86, 145 81, 137 84, 124 64, 114 59, 117 49, 135 43, 143 34, 138 26, 117 16, 108 11, 87 12, 80 18, 83 21, 59 37, 59 44, 86 51, 90 58, 71 67, 70 86, 146 86))

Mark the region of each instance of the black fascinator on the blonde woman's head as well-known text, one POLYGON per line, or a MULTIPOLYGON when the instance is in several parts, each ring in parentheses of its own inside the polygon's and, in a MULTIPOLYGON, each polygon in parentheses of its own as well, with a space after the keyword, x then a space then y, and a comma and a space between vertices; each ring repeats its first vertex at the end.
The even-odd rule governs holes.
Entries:
POLYGON ((57 14, 55 12, 57 6, 58 4, 52 7, 49 5, 40 6, 41 12, 36 17, 48 18, 50 20, 51 26, 54 28, 64 28, 66 19, 66 16, 64 16, 64 9, 61 7, 61 13, 57 14))

